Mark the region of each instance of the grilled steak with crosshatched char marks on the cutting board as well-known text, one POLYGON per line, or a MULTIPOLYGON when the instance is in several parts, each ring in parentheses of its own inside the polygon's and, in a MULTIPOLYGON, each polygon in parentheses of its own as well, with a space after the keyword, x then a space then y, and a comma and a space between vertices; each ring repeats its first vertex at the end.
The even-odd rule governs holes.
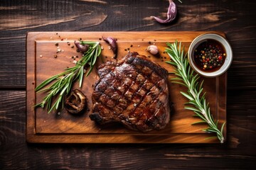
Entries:
POLYGON ((137 52, 97 70, 100 79, 92 93, 91 120, 117 121, 132 130, 165 128, 170 120, 168 72, 137 52))

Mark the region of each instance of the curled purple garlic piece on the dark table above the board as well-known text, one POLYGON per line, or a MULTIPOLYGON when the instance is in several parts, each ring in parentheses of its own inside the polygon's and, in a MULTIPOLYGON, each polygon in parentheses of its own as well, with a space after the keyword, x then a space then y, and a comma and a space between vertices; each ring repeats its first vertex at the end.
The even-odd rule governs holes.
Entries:
POLYGON ((174 4, 174 1, 169 0, 169 8, 168 8, 168 11, 167 11, 166 20, 163 20, 163 19, 158 18, 156 16, 151 16, 151 18, 154 18, 159 23, 171 23, 172 21, 174 21, 176 16, 177 16, 176 4, 174 4))

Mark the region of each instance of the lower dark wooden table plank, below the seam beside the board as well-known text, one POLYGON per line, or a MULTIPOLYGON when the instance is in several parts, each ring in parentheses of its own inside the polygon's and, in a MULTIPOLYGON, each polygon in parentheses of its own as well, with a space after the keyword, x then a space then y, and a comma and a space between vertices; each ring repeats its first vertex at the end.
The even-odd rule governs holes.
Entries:
POLYGON ((4 98, 0 100, 0 108, 6 108, 0 111, 0 168, 250 168, 255 162, 256 143, 255 98, 249 98, 251 94, 255 95, 255 91, 242 91, 230 100, 230 132, 225 145, 28 145, 25 135, 26 92, 0 91, 4 98), (242 115, 240 110, 245 108, 245 101, 248 114, 242 115), (127 159, 129 156, 131 159, 127 159))

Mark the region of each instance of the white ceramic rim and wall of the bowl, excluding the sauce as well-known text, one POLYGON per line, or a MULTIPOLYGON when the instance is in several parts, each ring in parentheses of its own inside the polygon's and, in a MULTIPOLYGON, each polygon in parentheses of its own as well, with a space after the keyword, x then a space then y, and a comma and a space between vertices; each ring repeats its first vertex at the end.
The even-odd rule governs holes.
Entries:
POLYGON ((228 68, 230 67, 230 64, 233 60, 233 52, 232 49, 230 47, 230 44, 228 43, 228 41, 223 38, 223 36, 215 34, 215 33, 206 33, 203 35, 199 35, 197 38, 195 38, 192 42, 191 45, 189 46, 188 49, 188 61, 189 64, 191 64, 191 67, 201 76, 203 77, 218 77, 221 74, 225 73, 228 68), (201 44, 201 42, 205 41, 205 40, 216 40, 218 42, 220 42, 220 44, 223 45, 223 47, 225 48, 225 52, 226 52, 226 57, 225 57, 225 62, 223 63, 223 65, 220 67, 220 69, 214 71, 214 72, 203 72, 203 70, 198 69, 198 67, 196 67, 196 63, 193 60, 193 53, 194 50, 196 50, 196 47, 201 44))

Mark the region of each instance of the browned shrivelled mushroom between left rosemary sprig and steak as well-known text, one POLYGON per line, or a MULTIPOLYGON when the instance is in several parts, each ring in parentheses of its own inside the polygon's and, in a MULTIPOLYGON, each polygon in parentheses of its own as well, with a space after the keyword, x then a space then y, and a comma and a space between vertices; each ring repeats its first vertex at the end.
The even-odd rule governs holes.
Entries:
POLYGON ((84 111, 87 106, 86 96, 82 91, 75 89, 70 93, 70 96, 65 100, 65 109, 69 113, 78 114, 84 111))

